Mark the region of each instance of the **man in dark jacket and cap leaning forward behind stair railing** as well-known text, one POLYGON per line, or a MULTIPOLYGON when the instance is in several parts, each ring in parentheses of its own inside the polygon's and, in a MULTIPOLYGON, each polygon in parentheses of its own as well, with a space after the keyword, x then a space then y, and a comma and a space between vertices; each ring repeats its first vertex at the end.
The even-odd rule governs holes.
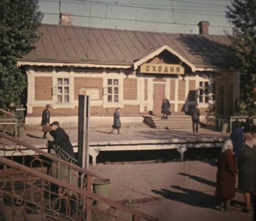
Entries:
POLYGON ((75 153, 73 150, 73 146, 69 141, 69 136, 60 128, 59 122, 54 121, 50 124, 52 131, 50 132, 51 136, 54 138, 54 141, 49 142, 49 146, 58 145, 62 150, 64 150, 70 157, 75 158, 75 153))

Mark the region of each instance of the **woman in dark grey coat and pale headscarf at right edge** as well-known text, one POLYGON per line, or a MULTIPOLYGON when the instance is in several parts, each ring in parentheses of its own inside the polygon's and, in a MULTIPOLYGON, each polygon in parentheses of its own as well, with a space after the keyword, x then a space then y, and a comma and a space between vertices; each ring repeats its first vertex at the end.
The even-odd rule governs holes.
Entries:
POLYGON ((244 212, 250 212, 251 196, 256 191, 256 146, 251 134, 245 135, 245 145, 238 155, 237 166, 238 189, 244 192, 244 212))

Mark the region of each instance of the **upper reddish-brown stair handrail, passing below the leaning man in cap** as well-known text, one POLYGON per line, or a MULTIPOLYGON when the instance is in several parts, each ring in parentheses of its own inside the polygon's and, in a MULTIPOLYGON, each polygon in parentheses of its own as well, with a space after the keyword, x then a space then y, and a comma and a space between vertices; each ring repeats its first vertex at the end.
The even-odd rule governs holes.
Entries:
POLYGON ((27 149, 29 149, 29 150, 33 150, 33 151, 35 151, 35 152, 37 152, 37 153, 39 153, 39 154, 42 154, 43 156, 45 156, 45 157, 47 157, 47 158, 49 158, 49 159, 51 159, 51 160, 53 160, 53 161, 57 161, 57 162, 63 163, 64 165, 66 165, 66 166, 68 166, 68 167, 70 167, 70 168, 72 168, 72 169, 75 169, 75 170, 77 170, 77 171, 79 171, 79 172, 81 172, 81 173, 84 173, 84 174, 86 174, 86 175, 90 175, 90 176, 93 176, 93 177, 102 179, 102 177, 100 177, 100 176, 97 175, 97 174, 92 173, 90 170, 83 169, 82 167, 76 166, 76 165, 74 165, 73 163, 67 162, 66 160, 63 160, 63 159, 61 159, 61 158, 59 158, 59 157, 55 157, 55 155, 52 155, 52 154, 47 153, 47 152, 45 152, 45 151, 43 151, 43 150, 41 150, 41 149, 38 149, 38 148, 36 148, 36 147, 33 146, 33 145, 30 145, 30 144, 28 144, 28 143, 25 143, 25 142, 19 140, 18 138, 11 137, 11 136, 9 136, 9 135, 6 135, 6 134, 0 132, 0 138, 1 138, 1 137, 4 137, 6 140, 9 140, 9 141, 14 142, 14 143, 16 143, 16 144, 19 144, 19 145, 21 145, 21 146, 24 146, 25 148, 27 148, 27 149))

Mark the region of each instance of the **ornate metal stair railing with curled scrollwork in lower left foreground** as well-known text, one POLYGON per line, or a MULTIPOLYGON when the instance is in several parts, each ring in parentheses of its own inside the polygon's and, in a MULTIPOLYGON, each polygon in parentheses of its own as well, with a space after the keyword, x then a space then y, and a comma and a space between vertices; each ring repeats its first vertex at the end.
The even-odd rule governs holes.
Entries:
MULTIPOLYGON (((57 150, 58 153, 58 150, 57 150)), ((57 154, 58 155, 58 154, 57 154)), ((6 220, 157 220, 92 193, 99 176, 0 133, 0 204, 6 220), (5 157, 11 151, 11 157, 5 157), (25 160, 26 159, 26 160, 25 160), (61 169, 65 174, 58 175, 61 169), (107 205, 97 207, 93 201, 107 205), (9 209, 9 210, 8 210, 9 209)))

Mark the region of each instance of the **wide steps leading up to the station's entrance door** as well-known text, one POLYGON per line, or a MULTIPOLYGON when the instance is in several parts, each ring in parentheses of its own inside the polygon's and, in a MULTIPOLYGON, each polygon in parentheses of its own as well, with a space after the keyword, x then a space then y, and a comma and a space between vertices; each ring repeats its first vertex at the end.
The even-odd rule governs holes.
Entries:
POLYGON ((145 116, 143 122, 156 129, 182 129, 191 128, 191 117, 186 114, 172 114, 168 119, 161 119, 161 116, 145 116))

